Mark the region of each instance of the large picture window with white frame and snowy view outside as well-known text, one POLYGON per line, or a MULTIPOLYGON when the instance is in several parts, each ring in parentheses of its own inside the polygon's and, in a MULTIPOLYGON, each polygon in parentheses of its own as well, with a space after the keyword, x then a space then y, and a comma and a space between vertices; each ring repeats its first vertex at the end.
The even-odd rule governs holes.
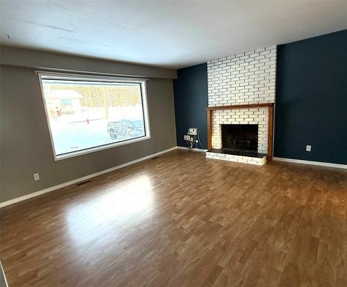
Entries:
POLYGON ((150 138, 144 79, 38 76, 56 160, 150 138))

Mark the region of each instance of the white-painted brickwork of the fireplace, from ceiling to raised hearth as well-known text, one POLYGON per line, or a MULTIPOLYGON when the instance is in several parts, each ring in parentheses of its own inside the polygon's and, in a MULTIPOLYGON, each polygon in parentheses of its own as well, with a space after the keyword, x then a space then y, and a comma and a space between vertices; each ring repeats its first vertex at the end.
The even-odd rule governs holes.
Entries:
MULTIPOLYGON (((208 107, 212 110, 212 149, 221 149, 221 124, 257 124, 257 151, 268 151, 268 107, 254 104, 275 103, 276 46, 256 49, 208 62, 208 107), (230 108, 239 106, 242 108, 230 108), (245 105, 253 105, 248 108, 245 105), (223 109, 223 106, 226 106, 223 109)), ((215 152, 207 157, 229 161, 264 164, 264 158, 246 158, 215 152)))

